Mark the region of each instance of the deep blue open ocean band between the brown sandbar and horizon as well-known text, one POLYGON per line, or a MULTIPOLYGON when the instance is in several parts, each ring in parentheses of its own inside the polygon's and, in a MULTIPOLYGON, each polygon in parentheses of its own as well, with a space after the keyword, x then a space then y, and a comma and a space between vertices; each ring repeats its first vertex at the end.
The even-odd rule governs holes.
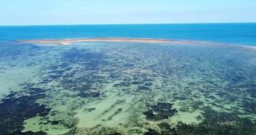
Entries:
POLYGON ((256 45, 256 23, 0 26, 0 41, 99 37, 168 38, 256 45))

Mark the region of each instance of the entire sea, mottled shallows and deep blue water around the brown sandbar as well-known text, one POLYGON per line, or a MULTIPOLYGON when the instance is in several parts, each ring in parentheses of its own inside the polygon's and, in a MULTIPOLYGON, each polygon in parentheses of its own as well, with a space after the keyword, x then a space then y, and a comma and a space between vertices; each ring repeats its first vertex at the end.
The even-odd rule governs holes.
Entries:
POLYGON ((256 24, 0 26, 0 135, 255 135, 256 24), (195 43, 17 43, 167 38, 195 43))

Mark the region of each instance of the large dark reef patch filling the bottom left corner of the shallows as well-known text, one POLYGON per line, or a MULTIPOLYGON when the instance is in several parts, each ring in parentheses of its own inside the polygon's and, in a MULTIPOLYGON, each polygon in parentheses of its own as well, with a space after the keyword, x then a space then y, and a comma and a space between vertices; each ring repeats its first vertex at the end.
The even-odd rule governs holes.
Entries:
MULTIPOLYGON (((30 93, 39 92, 37 90, 37 88, 32 88, 30 93)), ((45 134, 45 132, 21 132, 24 129, 24 120, 36 117, 36 115, 48 115, 49 111, 51 111, 45 105, 39 105, 39 103, 35 102, 36 99, 45 98, 45 94, 34 94, 18 98, 7 95, 7 97, 2 99, 0 103, 0 134, 45 134)))

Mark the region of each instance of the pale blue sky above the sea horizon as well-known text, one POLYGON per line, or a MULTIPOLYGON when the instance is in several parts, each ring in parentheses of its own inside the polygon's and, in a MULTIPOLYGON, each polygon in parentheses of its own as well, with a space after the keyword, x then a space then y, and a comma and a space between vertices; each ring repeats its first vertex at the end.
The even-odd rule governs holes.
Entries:
POLYGON ((256 22, 256 0, 0 0, 0 25, 256 22))

